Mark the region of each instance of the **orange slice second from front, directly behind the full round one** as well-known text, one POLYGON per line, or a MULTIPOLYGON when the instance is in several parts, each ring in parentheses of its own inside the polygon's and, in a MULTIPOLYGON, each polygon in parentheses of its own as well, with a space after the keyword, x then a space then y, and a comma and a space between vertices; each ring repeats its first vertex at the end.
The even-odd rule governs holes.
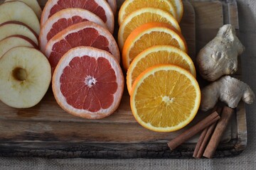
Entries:
POLYGON ((139 74, 156 64, 174 64, 191 72, 196 77, 196 68, 186 52, 172 45, 156 45, 149 47, 134 58, 127 72, 127 89, 129 94, 139 74))

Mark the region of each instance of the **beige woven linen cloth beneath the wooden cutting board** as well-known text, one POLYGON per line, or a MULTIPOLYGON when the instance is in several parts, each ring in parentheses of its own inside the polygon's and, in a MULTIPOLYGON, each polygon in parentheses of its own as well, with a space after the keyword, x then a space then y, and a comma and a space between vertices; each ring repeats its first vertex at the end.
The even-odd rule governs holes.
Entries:
MULTIPOLYGON (((242 55, 242 81, 256 93, 256 1, 237 0, 242 55)), ((221 159, 42 159, 0 157, 1 170, 20 169, 256 169, 256 102, 246 106, 247 147, 242 154, 221 159)))

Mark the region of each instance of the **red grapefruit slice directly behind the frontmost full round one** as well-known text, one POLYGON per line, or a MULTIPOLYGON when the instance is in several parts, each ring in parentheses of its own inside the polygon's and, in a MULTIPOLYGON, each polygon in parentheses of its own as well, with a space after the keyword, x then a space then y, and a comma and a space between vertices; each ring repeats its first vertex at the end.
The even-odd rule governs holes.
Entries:
POLYGON ((90 21, 75 23, 60 31, 46 45, 46 57, 54 69, 60 58, 73 47, 91 46, 110 52, 120 61, 119 49, 113 35, 90 21))

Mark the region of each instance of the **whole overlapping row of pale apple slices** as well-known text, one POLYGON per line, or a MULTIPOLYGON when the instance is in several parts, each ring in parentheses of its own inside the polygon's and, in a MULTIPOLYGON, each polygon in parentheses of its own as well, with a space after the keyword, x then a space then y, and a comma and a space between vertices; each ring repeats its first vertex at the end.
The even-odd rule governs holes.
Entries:
POLYGON ((0 5, 0 100, 14 108, 35 106, 50 85, 50 63, 38 50, 40 16, 36 0, 0 5))

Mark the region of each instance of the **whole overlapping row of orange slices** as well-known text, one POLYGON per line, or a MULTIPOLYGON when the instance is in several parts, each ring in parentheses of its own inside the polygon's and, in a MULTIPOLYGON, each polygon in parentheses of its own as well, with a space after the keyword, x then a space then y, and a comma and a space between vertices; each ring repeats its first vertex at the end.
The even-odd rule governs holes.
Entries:
POLYGON ((182 16, 180 0, 124 1, 119 11, 118 44, 132 113, 156 132, 188 125, 201 102, 196 69, 178 24, 182 16))

